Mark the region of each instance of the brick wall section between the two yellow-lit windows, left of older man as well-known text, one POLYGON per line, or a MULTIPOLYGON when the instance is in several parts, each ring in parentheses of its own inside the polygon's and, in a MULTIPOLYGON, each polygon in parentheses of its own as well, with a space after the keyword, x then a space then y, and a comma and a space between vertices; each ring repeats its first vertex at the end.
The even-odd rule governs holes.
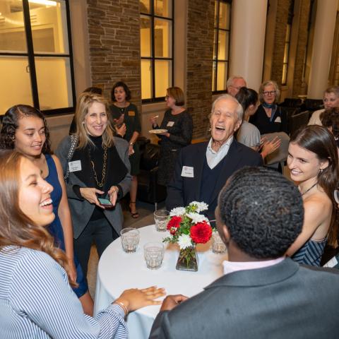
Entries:
POLYGON ((212 106, 214 2, 188 2, 186 107, 193 117, 194 138, 205 135, 212 106))

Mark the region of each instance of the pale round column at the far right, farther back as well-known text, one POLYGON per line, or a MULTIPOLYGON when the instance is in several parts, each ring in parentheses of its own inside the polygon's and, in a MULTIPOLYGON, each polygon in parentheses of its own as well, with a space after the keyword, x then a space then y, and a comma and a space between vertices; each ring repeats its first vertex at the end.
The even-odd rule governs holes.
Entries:
POLYGON ((307 93, 307 97, 310 99, 321 99, 323 91, 328 87, 328 72, 331 63, 337 8, 338 0, 317 1, 311 72, 307 93))

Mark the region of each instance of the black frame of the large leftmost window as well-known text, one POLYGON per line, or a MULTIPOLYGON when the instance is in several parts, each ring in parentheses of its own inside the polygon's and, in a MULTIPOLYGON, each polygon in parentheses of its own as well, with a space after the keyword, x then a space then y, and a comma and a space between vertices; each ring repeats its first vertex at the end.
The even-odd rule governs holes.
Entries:
MULTIPOLYGON (((45 115, 52 114, 64 114, 73 112, 76 107, 76 87, 74 79, 74 66, 73 66, 73 50, 72 50, 72 38, 71 38, 71 15, 69 10, 69 0, 64 0, 66 7, 66 23, 67 23, 67 36, 69 41, 69 53, 64 54, 51 54, 51 53, 35 53, 33 47, 33 38, 32 38, 32 25, 30 23, 30 5, 28 0, 22 0, 23 4, 23 22, 25 30, 25 39, 27 44, 26 52, 0 52, 0 56, 4 57, 27 57, 28 59, 28 68, 30 73, 30 90, 32 91, 32 102, 33 106, 37 109, 40 109, 39 103, 39 92, 37 89, 37 73, 35 69, 35 57, 47 57, 47 58, 65 58, 69 59, 69 68, 71 72, 71 93, 73 99, 72 107, 62 107, 57 109, 44 109, 42 112, 45 115)), ((0 116, 1 120, 4 117, 0 116)))

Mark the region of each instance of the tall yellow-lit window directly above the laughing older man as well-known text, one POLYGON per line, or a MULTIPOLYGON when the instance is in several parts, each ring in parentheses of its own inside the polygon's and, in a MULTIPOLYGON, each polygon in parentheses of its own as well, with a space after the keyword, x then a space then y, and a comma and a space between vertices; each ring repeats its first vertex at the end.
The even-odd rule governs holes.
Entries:
POLYGON ((226 90, 230 64, 230 27, 232 0, 216 0, 213 44, 213 92, 226 90))

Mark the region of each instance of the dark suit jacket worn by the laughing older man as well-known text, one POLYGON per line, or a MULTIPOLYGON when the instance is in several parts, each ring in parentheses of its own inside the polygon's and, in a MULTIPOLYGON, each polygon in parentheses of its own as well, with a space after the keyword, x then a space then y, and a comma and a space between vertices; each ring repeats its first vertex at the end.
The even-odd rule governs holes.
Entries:
MULTIPOLYGON (((201 180, 203 176, 203 163, 206 159, 206 149, 208 143, 196 143, 182 148, 175 165, 174 177, 167 186, 167 210, 174 207, 187 206, 192 201, 200 201, 201 180), (194 168, 194 177, 182 177, 182 167, 194 168)), ((217 205, 218 195, 225 185, 227 179, 244 166, 261 166, 263 160, 261 155, 251 148, 238 143, 233 139, 227 155, 221 160, 222 169, 218 178, 215 178, 215 187, 208 203, 208 218, 214 218, 214 209, 217 205)))

